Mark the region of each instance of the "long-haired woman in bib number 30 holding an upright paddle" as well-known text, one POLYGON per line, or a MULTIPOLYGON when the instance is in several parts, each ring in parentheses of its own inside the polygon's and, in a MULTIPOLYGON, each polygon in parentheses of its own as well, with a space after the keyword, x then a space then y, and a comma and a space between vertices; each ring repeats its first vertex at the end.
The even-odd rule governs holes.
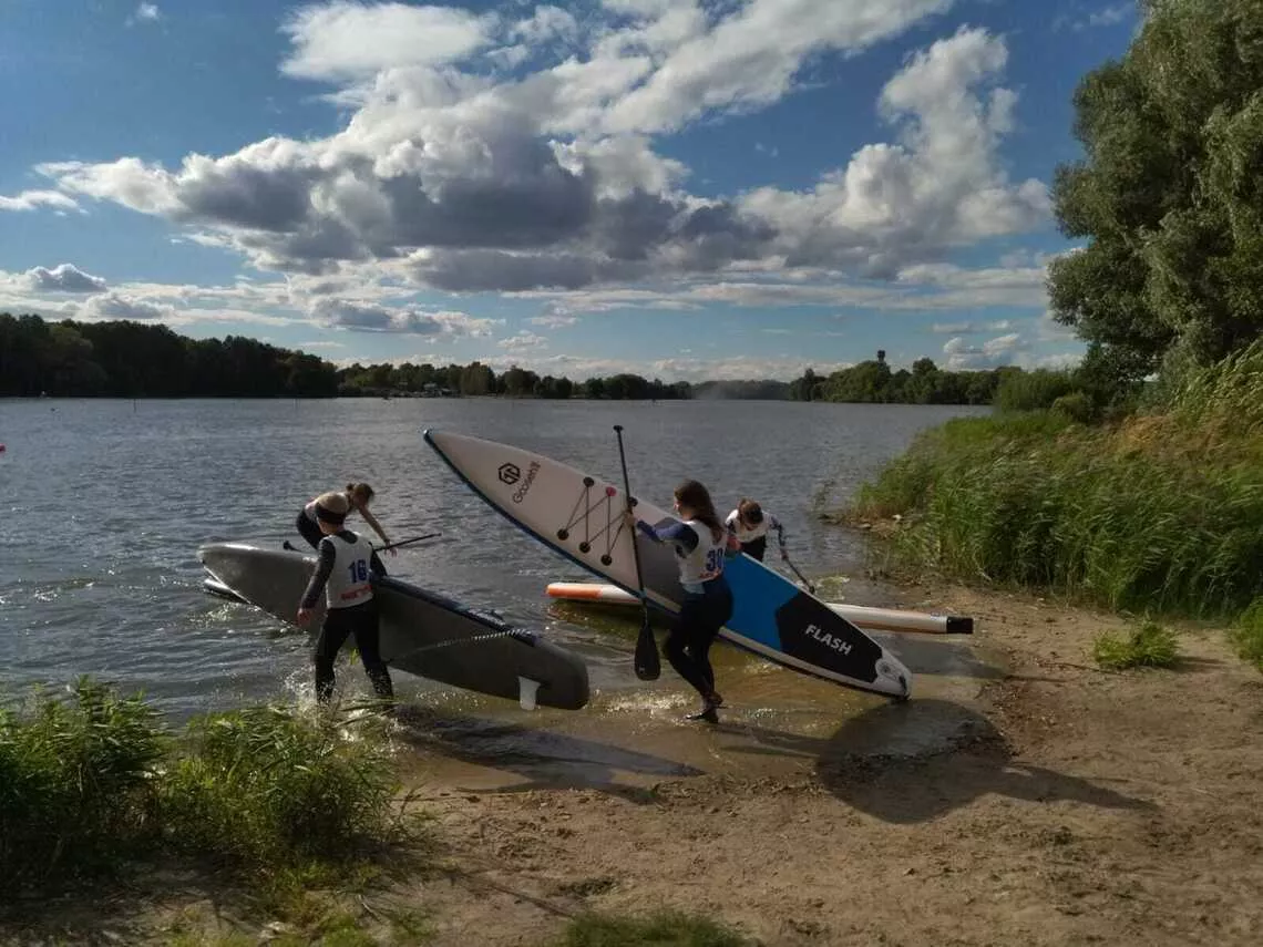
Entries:
POLYGON ((676 673, 702 696, 702 708, 688 715, 688 720, 717 724, 716 711, 724 698, 715 689, 709 654, 719 630, 733 616, 733 590, 724 577, 724 557, 736 551, 736 539, 720 523, 710 492, 696 480, 676 487, 676 513, 682 521, 661 532, 632 513, 625 513, 624 520, 654 542, 676 547, 679 585, 686 595, 662 650, 676 673))

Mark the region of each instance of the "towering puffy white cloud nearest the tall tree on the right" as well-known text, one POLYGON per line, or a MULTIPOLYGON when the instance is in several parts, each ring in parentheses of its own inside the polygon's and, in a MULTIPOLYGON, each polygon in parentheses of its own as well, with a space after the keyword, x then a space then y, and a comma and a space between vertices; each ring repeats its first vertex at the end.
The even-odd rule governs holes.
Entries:
POLYGON ((741 208, 777 227, 789 265, 844 263, 877 277, 1033 229, 1050 212, 1047 188, 1010 184, 997 159, 1017 101, 991 86, 1007 59, 1004 40, 981 29, 933 43, 882 91, 898 144, 863 146, 807 193, 753 191, 741 208))

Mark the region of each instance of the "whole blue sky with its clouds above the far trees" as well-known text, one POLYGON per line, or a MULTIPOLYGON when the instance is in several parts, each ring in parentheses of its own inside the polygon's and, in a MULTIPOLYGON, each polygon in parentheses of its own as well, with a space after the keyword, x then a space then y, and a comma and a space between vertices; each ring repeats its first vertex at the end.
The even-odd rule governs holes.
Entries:
POLYGON ((0 0, 0 312, 581 380, 1075 364, 1119 0, 0 0))

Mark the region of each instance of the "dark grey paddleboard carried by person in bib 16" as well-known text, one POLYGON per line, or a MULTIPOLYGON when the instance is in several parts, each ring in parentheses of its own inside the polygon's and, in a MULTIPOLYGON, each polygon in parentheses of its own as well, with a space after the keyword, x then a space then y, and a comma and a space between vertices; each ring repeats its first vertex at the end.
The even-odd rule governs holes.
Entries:
MULTIPOLYGON (((211 543, 197 556, 210 572, 207 591, 297 624, 298 600, 316 571, 314 552, 211 543)), ((470 609, 398 578, 375 578, 373 592, 381 658, 392 668, 528 707, 587 705, 587 664, 573 652, 510 625, 494 611, 470 609)), ((323 621, 323 599, 314 612, 311 629, 323 621)))

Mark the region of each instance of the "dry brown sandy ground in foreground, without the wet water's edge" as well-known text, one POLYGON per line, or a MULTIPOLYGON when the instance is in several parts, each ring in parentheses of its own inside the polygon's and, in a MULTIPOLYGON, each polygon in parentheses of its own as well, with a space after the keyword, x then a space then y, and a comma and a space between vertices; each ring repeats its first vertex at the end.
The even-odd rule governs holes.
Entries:
POLYGON ((1178 670, 1108 674, 1087 649, 1118 619, 913 591, 974 615, 1008 674, 826 737, 709 737, 754 730, 777 760, 759 775, 437 795, 472 878, 427 886, 434 942, 539 943, 566 912, 650 905, 769 944, 1263 942, 1263 678, 1223 635, 1185 633, 1178 670), (926 726, 952 735, 903 756, 864 739, 926 726))

